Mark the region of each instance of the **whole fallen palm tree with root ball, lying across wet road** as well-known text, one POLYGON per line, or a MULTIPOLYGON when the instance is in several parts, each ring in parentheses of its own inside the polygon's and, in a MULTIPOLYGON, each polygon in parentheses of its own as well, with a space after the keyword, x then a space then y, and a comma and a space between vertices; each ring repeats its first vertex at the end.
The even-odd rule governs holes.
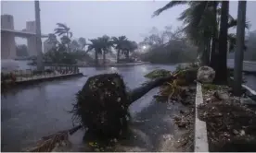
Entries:
MULTIPOLYGON (((161 87, 165 95, 178 95, 182 84, 191 83, 197 76, 197 69, 179 70, 174 73, 160 71, 148 74, 151 80, 139 88, 128 92, 122 76, 118 74, 104 74, 89 77, 83 88, 76 94, 73 104, 73 121, 79 125, 70 130, 58 132, 55 135, 45 136, 36 147, 27 151, 51 151, 57 144, 67 141, 68 136, 77 130, 86 127, 89 134, 104 140, 111 140, 124 134, 128 127, 128 107, 144 96, 152 88, 161 87), (153 77, 151 77, 153 76, 153 77), (168 89, 164 89, 167 88, 168 89)), ((170 98, 170 96, 169 96, 170 98)))

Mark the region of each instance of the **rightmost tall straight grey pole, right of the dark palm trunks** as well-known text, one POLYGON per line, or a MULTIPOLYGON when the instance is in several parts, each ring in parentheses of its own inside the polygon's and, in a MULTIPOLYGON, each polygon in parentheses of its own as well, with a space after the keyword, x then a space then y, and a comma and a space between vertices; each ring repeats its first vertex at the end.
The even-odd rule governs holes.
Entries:
POLYGON ((235 69, 234 69, 234 94, 241 95, 242 88, 242 69, 244 59, 245 44, 245 23, 246 23, 246 5, 247 1, 238 1, 237 12, 237 50, 235 52, 235 69))

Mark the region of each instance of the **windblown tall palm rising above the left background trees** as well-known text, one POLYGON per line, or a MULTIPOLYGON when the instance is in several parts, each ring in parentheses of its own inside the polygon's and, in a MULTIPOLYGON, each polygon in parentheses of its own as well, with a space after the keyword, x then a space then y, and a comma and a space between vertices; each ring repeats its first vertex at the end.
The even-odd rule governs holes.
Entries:
POLYGON ((65 24, 63 23, 57 23, 58 28, 54 29, 55 34, 57 34, 58 36, 62 36, 62 40, 67 43, 67 48, 70 51, 70 38, 72 37, 72 32, 70 31, 70 28, 67 27, 65 24))

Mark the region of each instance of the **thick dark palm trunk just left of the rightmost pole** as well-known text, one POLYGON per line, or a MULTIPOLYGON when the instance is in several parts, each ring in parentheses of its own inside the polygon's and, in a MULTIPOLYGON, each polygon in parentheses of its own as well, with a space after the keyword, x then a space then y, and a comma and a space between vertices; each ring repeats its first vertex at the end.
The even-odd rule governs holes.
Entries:
POLYGON ((219 35, 219 55, 218 66, 216 70, 215 81, 219 84, 226 84, 227 82, 227 66, 226 66, 226 54, 227 54, 227 26, 228 26, 228 12, 229 1, 222 2, 221 11, 221 28, 219 35))

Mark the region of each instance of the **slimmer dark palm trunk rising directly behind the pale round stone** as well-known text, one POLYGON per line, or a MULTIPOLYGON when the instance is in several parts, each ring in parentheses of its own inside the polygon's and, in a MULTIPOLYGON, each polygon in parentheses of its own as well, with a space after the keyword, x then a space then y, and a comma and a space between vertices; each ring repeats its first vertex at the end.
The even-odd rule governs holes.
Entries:
POLYGON ((210 66, 216 70, 216 34, 217 34, 217 29, 218 29, 218 23, 217 23, 217 2, 213 2, 214 7, 213 7, 213 14, 214 14, 214 28, 212 29, 212 38, 211 38, 211 59, 210 59, 210 66))

